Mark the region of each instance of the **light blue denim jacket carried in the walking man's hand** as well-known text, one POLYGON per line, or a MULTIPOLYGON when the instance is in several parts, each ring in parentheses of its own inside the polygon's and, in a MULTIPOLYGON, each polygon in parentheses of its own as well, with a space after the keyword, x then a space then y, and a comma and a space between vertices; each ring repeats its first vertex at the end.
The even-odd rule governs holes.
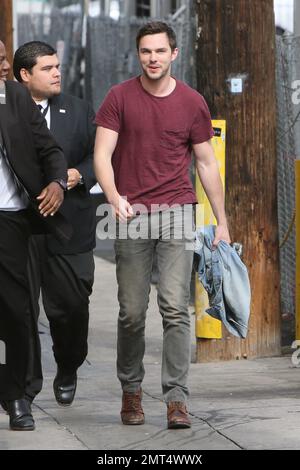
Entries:
POLYGON ((207 225, 196 233, 198 277, 209 298, 206 312, 234 336, 246 338, 251 300, 247 268, 227 242, 221 240, 212 250, 215 228, 207 225))

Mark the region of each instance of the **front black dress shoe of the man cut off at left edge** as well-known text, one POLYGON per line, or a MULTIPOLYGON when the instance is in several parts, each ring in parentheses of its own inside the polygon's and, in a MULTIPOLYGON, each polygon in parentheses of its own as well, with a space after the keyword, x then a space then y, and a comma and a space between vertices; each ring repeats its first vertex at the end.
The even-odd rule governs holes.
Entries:
POLYGON ((13 431, 33 431, 35 428, 34 419, 31 414, 31 406, 28 400, 6 401, 7 412, 9 414, 9 426, 13 431))

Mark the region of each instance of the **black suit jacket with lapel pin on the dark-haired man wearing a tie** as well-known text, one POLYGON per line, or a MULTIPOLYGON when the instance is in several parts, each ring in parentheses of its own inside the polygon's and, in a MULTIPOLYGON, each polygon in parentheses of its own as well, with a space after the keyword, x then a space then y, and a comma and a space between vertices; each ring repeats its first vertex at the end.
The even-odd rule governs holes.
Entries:
POLYGON ((53 253, 83 253, 95 246, 96 215, 89 193, 96 183, 94 117, 91 105, 75 96, 61 93, 50 100, 50 131, 63 149, 68 168, 76 168, 84 182, 65 194, 60 210, 72 224, 73 236, 64 246, 48 236, 48 248, 53 253))

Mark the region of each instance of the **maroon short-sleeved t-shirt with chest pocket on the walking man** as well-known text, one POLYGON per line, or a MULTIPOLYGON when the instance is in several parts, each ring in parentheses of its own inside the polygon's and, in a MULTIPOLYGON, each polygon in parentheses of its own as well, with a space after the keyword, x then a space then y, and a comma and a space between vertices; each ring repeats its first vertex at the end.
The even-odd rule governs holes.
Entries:
POLYGON ((148 93, 140 77, 111 88, 95 122, 118 132, 112 157, 115 183, 130 204, 193 204, 191 145, 213 136, 204 98, 176 80, 164 97, 148 93))

